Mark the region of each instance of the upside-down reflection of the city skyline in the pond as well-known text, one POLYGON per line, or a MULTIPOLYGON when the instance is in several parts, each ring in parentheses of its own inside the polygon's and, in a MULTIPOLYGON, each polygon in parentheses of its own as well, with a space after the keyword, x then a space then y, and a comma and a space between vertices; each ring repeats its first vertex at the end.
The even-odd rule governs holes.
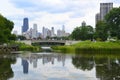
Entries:
POLYGON ((62 62, 62 66, 65 66, 65 55, 55 54, 30 54, 27 57, 22 58, 23 73, 28 73, 29 63, 33 64, 33 68, 37 68, 38 59, 42 60, 42 64, 51 63, 54 65, 55 61, 62 62))

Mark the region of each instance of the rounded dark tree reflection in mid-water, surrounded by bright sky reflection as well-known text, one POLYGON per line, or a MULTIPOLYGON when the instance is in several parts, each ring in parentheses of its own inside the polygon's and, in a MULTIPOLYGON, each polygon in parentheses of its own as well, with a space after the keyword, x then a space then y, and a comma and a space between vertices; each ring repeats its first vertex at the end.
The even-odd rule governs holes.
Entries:
POLYGON ((94 61, 92 57, 73 57, 72 63, 76 68, 81 70, 91 70, 94 67, 94 61))

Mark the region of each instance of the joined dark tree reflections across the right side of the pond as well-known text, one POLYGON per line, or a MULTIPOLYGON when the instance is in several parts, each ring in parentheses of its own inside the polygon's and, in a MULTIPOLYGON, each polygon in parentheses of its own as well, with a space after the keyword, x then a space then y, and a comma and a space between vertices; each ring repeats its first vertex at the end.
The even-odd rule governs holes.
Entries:
POLYGON ((75 56, 72 58, 73 65, 81 70, 96 69, 96 78, 99 80, 120 80, 120 59, 104 57, 75 56))

